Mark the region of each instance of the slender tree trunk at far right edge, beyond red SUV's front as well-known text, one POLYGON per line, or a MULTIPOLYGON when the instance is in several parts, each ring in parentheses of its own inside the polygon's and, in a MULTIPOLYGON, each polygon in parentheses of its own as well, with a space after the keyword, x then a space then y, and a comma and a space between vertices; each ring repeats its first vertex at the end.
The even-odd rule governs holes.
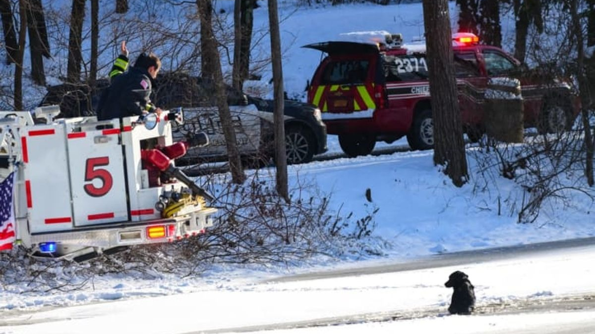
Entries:
POLYGON ((585 74, 585 50, 583 27, 581 26, 580 15, 578 13, 578 0, 571 0, 570 14, 572 15, 571 34, 577 41, 577 68, 578 68, 578 91, 581 98, 581 119, 585 132, 585 177, 590 187, 593 187, 593 134, 589 124, 589 112, 591 101, 588 93, 588 81, 585 74))

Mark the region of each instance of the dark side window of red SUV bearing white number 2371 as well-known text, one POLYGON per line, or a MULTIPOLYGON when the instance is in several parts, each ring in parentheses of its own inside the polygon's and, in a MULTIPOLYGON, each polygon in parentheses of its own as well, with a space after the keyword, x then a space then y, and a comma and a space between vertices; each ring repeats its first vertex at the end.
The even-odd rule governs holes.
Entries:
POLYGON ((386 81, 409 81, 428 78, 428 64, 425 62, 425 55, 384 55, 382 59, 386 81))

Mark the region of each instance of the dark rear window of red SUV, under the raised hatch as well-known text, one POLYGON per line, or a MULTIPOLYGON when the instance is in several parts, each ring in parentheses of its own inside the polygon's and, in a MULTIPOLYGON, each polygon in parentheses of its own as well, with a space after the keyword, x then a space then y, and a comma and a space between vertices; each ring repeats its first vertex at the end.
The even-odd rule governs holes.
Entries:
POLYGON ((365 83, 368 67, 367 60, 332 61, 324 68, 321 84, 365 83))

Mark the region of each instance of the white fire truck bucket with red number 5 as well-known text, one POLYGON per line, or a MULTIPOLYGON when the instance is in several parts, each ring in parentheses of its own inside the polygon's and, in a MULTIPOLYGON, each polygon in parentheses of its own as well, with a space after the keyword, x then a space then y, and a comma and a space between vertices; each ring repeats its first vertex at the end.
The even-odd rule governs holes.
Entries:
POLYGON ((213 200, 176 167, 203 133, 174 143, 183 111, 97 121, 57 106, 0 112, 0 175, 14 178, 17 244, 76 261, 172 242, 213 225, 213 200))

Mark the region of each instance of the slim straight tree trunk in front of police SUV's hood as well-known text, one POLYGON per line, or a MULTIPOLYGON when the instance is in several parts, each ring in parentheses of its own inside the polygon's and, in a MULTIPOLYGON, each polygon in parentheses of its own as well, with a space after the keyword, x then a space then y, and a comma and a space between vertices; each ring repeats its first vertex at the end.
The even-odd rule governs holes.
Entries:
POLYGON ((271 35, 271 61, 273 62, 273 89, 275 109, 273 114, 275 126, 275 163, 277 164, 277 193, 289 203, 289 186, 287 185, 287 157, 285 147, 285 122, 283 118, 283 68, 281 66, 281 36, 279 33, 279 17, 277 0, 268 0, 268 22, 271 35))

